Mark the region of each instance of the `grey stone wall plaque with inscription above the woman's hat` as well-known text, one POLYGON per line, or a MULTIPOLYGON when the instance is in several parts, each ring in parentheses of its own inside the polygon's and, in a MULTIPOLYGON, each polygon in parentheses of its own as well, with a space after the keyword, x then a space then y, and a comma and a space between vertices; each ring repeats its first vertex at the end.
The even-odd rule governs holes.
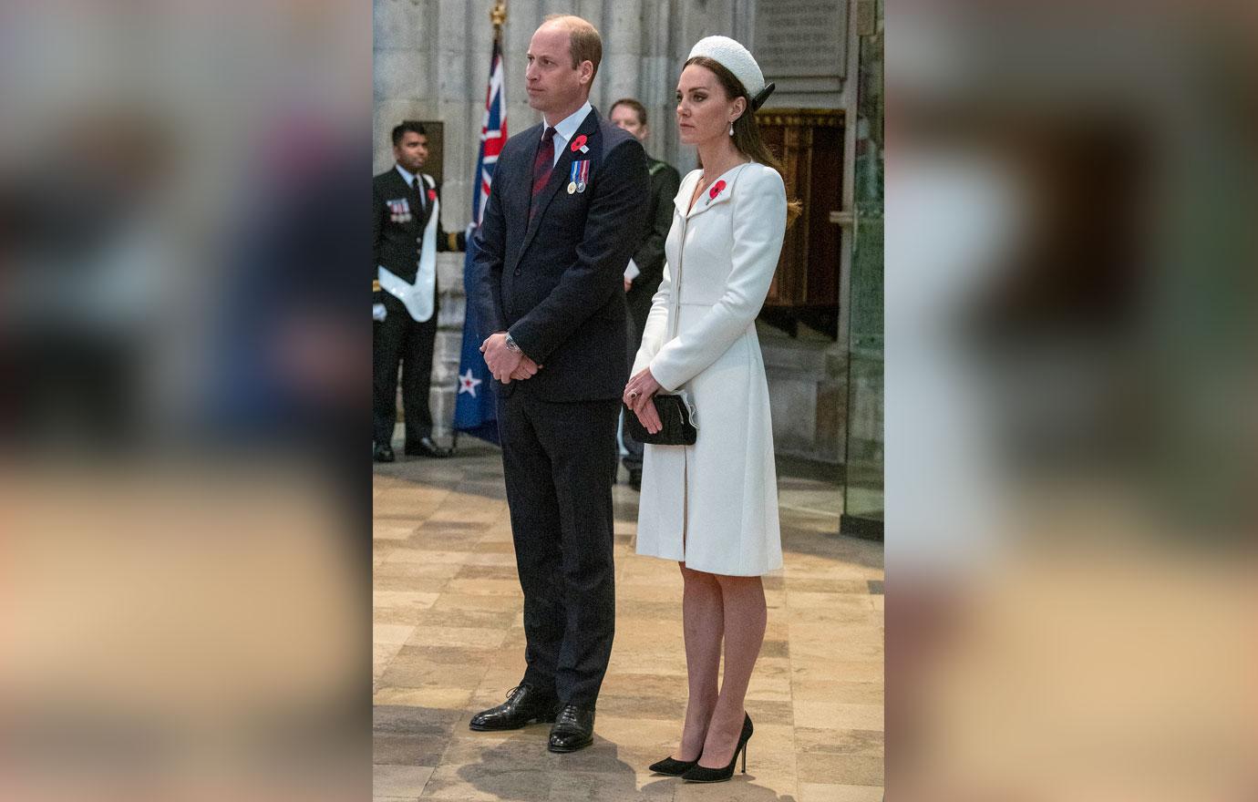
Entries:
POLYGON ((770 80, 775 77, 843 77, 847 26, 847 0, 759 3, 752 50, 770 80))

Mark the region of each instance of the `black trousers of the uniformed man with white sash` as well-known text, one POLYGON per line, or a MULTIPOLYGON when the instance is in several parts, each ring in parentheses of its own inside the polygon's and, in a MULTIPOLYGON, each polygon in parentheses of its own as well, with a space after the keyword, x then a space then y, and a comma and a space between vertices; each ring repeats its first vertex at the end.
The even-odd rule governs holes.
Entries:
POLYGON ((389 293, 380 295, 387 314, 382 322, 374 322, 371 329, 371 440, 385 445, 392 441, 398 420, 398 365, 401 363, 406 442, 416 445, 421 437, 433 434, 428 390, 433 377, 437 309, 428 321, 416 323, 400 300, 389 293))

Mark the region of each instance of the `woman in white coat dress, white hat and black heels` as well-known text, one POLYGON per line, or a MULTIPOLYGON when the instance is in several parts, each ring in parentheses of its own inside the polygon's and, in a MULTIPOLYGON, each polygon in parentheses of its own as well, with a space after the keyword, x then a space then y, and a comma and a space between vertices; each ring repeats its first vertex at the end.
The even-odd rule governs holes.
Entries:
POLYGON ((645 446, 638 512, 638 553, 681 563, 689 675, 681 743, 650 768, 691 782, 728 779, 740 752, 746 771, 752 727, 743 698, 766 620, 760 577, 781 567, 769 387, 755 328, 788 221, 781 175, 754 114, 771 91, 737 41, 708 36, 691 50, 677 122, 703 168, 677 194, 664 280, 624 393, 653 432, 657 392, 684 391, 696 411, 693 446, 645 446))

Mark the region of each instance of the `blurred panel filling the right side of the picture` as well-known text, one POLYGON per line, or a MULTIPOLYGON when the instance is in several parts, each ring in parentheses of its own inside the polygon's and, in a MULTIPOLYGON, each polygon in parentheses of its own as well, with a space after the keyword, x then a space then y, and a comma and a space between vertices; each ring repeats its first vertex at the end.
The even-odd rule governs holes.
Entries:
POLYGON ((1253 799, 1254 6, 888 11, 887 798, 1253 799))

